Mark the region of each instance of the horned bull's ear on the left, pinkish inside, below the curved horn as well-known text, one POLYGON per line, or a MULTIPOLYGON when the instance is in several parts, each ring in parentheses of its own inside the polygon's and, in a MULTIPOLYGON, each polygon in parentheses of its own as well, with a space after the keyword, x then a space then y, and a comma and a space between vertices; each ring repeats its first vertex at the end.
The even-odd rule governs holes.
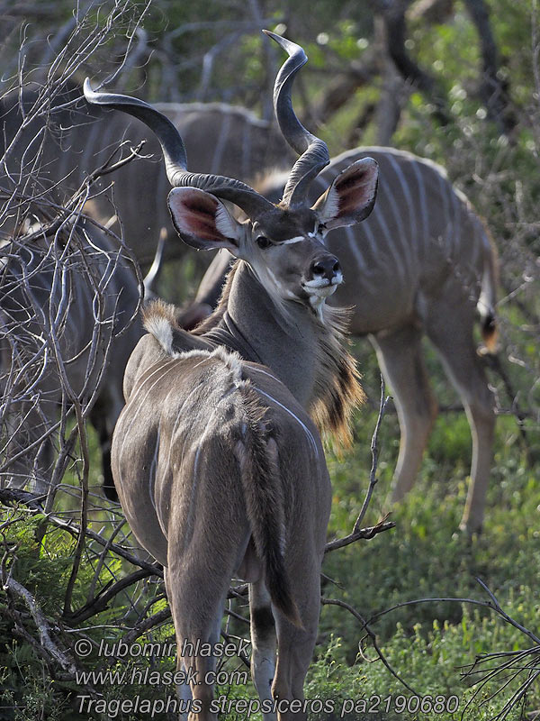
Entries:
POLYGON ((177 233, 192 248, 227 248, 237 255, 241 226, 216 197, 196 187, 174 187, 167 204, 177 233))

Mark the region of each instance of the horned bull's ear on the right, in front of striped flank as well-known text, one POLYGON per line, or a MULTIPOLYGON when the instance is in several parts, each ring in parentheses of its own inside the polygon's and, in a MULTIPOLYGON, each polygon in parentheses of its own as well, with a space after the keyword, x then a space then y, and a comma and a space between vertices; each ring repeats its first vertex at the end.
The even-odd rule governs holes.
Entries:
POLYGON ((320 222, 331 230, 364 220, 374 209, 379 166, 373 158, 356 160, 334 178, 313 205, 320 222))

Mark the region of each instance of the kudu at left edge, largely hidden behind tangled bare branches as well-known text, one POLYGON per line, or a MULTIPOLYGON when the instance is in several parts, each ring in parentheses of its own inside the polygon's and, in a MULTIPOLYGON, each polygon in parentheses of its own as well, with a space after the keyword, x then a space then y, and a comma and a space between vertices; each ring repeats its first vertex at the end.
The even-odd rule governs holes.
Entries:
POLYGON ((129 260, 89 222, 53 237, 43 227, 3 248, 0 484, 22 488, 32 479, 47 493, 58 413, 78 399, 99 435, 104 487, 114 497, 110 444, 123 370, 140 337, 139 324, 130 324, 139 287, 129 260))

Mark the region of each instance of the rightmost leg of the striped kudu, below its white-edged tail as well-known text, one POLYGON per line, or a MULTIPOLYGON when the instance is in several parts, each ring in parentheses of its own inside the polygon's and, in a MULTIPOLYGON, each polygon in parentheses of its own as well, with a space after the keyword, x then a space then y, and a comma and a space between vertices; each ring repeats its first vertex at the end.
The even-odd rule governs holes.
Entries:
POLYGON ((439 352, 448 376, 465 407, 473 436, 471 482, 460 528, 468 534, 482 529, 485 497, 491 472, 495 410, 483 362, 473 341, 473 315, 448 316, 445 323, 428 326, 428 336, 439 352))

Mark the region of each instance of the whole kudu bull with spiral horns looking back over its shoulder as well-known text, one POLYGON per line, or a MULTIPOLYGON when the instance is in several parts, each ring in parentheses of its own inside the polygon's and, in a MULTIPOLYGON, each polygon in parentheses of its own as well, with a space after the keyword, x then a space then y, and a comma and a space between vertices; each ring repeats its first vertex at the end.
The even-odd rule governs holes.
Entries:
MULTIPOLYGON (((329 475, 311 418, 347 441, 361 397, 341 343, 344 314, 325 305, 342 272, 324 238, 371 212, 377 165, 353 163, 314 205, 307 202, 329 153, 293 113, 302 48, 269 34, 290 55, 276 78, 275 111, 301 154, 278 205, 237 180, 188 172, 178 132, 149 105, 95 94, 88 83, 85 95, 156 132, 184 242, 227 248, 238 259, 198 333, 181 330, 168 306, 146 312, 149 334, 126 369, 112 470, 134 534, 165 566, 178 648, 185 639, 193 647, 216 643, 231 577, 249 582, 253 679, 265 719, 284 721, 307 716, 302 687, 329 519, 329 475), (223 200, 247 221, 238 223, 223 200)), ((215 719, 207 675, 214 663, 200 655, 180 662, 197 673, 189 717, 215 719)))

